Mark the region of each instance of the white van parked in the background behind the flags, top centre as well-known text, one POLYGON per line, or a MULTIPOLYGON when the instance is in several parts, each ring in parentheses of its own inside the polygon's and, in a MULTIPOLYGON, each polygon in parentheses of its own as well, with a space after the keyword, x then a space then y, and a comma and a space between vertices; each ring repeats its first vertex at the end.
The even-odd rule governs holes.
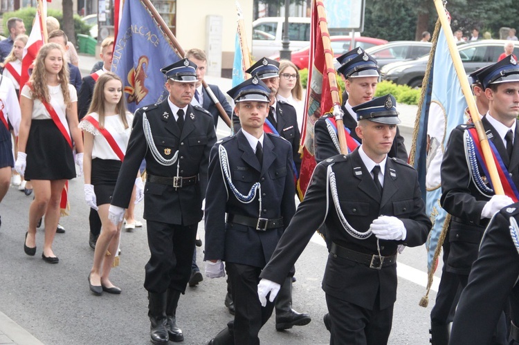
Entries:
MULTIPOLYGON (((289 17, 289 49, 310 45, 310 17, 289 17)), ((253 60, 279 54, 283 48, 284 17, 264 17, 253 21, 253 60)))

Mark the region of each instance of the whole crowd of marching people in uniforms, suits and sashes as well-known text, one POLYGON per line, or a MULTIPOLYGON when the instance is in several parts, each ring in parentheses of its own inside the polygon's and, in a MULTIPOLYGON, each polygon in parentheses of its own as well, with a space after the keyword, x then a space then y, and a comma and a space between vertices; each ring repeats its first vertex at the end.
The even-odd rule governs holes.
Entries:
MULTIPOLYGON (((51 19, 48 26, 53 24, 51 19)), ((397 102, 390 94, 374 97, 380 77, 374 57, 354 48, 337 58, 336 72, 348 95, 340 106, 343 118, 326 113, 313 124, 318 165, 296 207, 300 132, 307 118, 300 74, 292 62, 260 58, 246 71, 251 78, 227 91, 231 106, 218 86, 204 85, 207 57, 192 48, 161 69, 167 99, 131 114, 124 84, 110 72, 113 37, 102 41, 100 69, 82 78, 68 38, 54 27, 37 53, 29 81, 21 85, 21 50, 27 42, 23 21, 10 19, 8 28, 12 35, 0 42, 1 54, 10 44, 0 76, 0 201, 12 168, 20 185, 21 178, 26 189, 32 184, 27 255, 37 252, 36 230, 43 222, 42 259, 59 263, 53 240, 60 231, 64 190, 68 180, 83 176, 94 250, 89 290, 96 296, 118 295, 124 286, 116 286, 110 272, 117 265, 121 228, 125 218, 127 229, 138 226, 133 208, 144 201, 150 339, 153 344, 182 342, 176 309, 187 286, 203 281, 196 247, 202 245, 197 229, 204 220, 204 273, 212 279, 228 276, 222 299, 234 315, 209 344, 259 344, 258 333, 274 310, 277 330, 311 322, 310 315, 293 310, 292 284, 295 262, 319 230, 329 251, 322 289, 330 344, 388 343, 398 254, 406 246, 423 245, 432 223, 417 171, 406 163, 397 102), (233 119, 235 132, 221 140, 215 127, 225 115, 218 103, 233 119), (343 136, 347 153, 340 148, 343 136)), ((515 30, 509 35, 513 40, 515 30)), ((473 30, 471 40, 479 38, 473 30)), ((430 39, 429 32, 423 39, 430 39)), ((484 163, 473 149, 473 124, 450 133, 440 202, 452 218, 430 315, 431 342, 515 344, 516 57, 505 50, 500 62, 471 78, 483 127, 491 133, 501 176, 510 177, 510 187, 507 195, 495 195, 489 187, 484 163)))

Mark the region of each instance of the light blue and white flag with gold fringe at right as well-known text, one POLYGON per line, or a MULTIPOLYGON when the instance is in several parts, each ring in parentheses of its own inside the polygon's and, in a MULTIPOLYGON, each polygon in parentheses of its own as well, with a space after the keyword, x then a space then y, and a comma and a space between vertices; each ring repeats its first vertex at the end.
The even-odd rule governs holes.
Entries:
MULTIPOLYGON (((415 168, 426 198, 426 212, 432 221, 432 230, 426 243, 428 270, 435 270, 433 262, 438 239, 447 213, 439 205, 441 197, 440 168, 450 132, 468 120, 466 100, 450 57, 443 29, 439 32, 434 66, 426 86, 426 99, 422 106, 417 136, 415 168), (427 139, 429 137, 429 149, 427 139)), ((447 239, 448 241, 448 239, 447 239)))

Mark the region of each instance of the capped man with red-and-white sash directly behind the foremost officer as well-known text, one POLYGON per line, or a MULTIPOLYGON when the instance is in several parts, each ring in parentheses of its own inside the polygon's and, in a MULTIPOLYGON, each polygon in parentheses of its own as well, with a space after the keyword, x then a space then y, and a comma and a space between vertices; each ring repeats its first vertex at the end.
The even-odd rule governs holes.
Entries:
MULTIPOLYGON (((355 132, 357 121, 356 114, 352 108, 373 99, 376 84, 379 83, 379 66, 376 65, 376 59, 365 53, 362 48, 350 50, 348 53, 338 57, 337 61, 340 63, 337 72, 343 76, 348 93, 347 100, 341 106, 344 112, 345 135, 351 136, 358 145, 361 144, 361 138, 358 138, 355 132)), ((319 118, 314 131, 317 162, 340 153, 334 115, 327 113, 319 118)), ((408 160, 408 153, 398 127, 397 136, 394 138, 393 146, 388 155, 400 158, 406 162, 408 160)))

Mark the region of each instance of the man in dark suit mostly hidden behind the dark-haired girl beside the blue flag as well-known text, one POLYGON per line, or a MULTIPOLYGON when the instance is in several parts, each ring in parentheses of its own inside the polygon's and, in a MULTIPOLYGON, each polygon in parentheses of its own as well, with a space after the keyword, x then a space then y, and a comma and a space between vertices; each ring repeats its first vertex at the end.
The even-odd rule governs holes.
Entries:
MULTIPOLYGON (((103 75, 105 72, 109 72, 111 68, 111 59, 113 54, 113 37, 107 37, 101 42, 101 53, 100 57, 103 62, 103 66, 95 73, 91 73, 83 78, 80 93, 78 93, 78 117, 81 121, 84 115, 88 113, 90 103, 92 102, 93 88, 98 77, 103 75)), ((89 245, 92 249, 95 249, 95 243, 98 241, 99 234, 101 233, 101 219, 95 209, 90 208, 89 214, 89 245)))

